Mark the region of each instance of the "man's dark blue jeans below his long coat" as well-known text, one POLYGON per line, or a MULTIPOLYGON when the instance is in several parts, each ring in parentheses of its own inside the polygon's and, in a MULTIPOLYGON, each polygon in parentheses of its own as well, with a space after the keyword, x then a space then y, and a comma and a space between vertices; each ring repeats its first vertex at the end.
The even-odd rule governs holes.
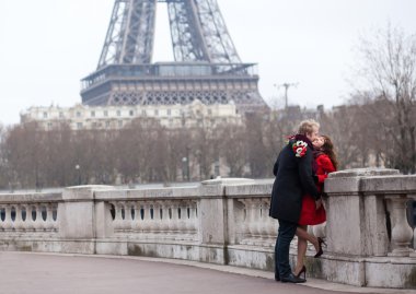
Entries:
POLYGON ((275 246, 275 275, 288 277, 292 271, 289 264, 290 242, 298 224, 279 220, 279 231, 275 246))

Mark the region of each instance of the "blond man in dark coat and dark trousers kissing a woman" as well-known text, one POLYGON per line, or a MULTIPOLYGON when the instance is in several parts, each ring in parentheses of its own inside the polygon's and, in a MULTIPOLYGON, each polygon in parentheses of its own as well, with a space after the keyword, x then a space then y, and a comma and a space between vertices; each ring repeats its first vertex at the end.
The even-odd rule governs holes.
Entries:
POLYGON ((293 239, 302 208, 302 197, 311 195, 321 202, 313 179, 313 145, 320 125, 314 120, 304 120, 299 125, 298 133, 290 138, 281 150, 273 173, 276 176, 271 190, 269 215, 279 221, 279 231, 275 247, 275 280, 290 283, 303 283, 307 280, 296 277, 289 264, 290 242, 293 239))

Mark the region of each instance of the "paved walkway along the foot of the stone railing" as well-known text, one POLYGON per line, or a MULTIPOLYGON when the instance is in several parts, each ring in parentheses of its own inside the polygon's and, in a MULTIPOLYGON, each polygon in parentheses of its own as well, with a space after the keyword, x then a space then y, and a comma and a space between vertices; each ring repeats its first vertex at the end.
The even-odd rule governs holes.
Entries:
POLYGON ((314 279, 284 284, 270 272, 150 258, 0 252, 0 264, 2 294, 416 293, 314 279))

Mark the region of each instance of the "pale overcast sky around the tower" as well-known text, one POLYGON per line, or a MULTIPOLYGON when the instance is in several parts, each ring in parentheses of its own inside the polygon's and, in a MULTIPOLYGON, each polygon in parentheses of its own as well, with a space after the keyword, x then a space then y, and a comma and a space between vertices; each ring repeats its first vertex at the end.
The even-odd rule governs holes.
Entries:
MULTIPOLYGON (((289 104, 325 107, 349 93, 354 46, 377 27, 416 31, 414 0, 218 0, 244 62, 258 63, 259 91, 282 105, 275 84, 298 82, 289 104)), ((0 1, 0 121, 31 106, 81 102, 80 80, 96 68, 114 0, 0 1)), ((165 4, 158 5, 153 61, 170 61, 165 4)))

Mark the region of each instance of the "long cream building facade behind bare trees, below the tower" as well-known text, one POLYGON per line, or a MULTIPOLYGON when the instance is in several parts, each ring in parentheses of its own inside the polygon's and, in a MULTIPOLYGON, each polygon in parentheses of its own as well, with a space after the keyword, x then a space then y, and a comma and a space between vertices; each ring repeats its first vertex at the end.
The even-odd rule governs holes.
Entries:
POLYGON ((38 122, 45 130, 68 124, 72 130, 122 129, 132 120, 150 118, 166 128, 215 128, 219 125, 242 124, 242 115, 234 103, 187 105, 118 105, 73 107, 34 106, 21 114, 21 122, 38 122))

